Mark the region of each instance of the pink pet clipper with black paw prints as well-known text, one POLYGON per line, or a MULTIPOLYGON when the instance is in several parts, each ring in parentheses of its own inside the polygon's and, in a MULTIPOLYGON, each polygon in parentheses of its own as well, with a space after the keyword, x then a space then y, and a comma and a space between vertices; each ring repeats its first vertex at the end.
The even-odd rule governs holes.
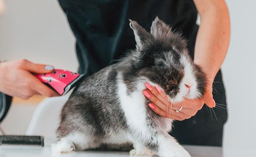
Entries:
POLYGON ((85 74, 55 69, 52 73, 35 74, 35 76, 46 85, 55 89, 60 95, 63 95, 76 86, 85 74))

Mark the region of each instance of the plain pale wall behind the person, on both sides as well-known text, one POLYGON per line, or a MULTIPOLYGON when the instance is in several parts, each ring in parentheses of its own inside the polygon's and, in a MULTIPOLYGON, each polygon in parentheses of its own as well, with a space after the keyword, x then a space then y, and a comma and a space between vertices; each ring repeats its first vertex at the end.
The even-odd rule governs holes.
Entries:
MULTIPOLYGON (((76 71, 74 37, 56 0, 6 0, 0 16, 0 60, 27 58, 76 71)), ((227 90, 225 157, 256 148, 256 1, 227 0, 231 42, 222 66, 227 90)), ((25 109, 24 109, 25 110, 25 109)))

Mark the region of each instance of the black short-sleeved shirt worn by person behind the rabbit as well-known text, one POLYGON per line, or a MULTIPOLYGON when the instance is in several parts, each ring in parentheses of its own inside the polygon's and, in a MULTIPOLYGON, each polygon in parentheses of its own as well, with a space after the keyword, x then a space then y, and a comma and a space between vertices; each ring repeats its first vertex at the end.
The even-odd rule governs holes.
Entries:
MULTIPOLYGON (((193 58, 198 26, 192 0, 59 0, 59 3, 76 37, 79 73, 87 76, 96 73, 122 57, 127 49, 135 48, 128 19, 149 31, 158 16, 188 39, 193 58)), ((222 82, 220 71, 215 80, 222 82)), ((214 86, 219 93, 214 93, 216 103, 226 104, 223 84, 214 86)), ((213 111, 204 106, 191 119, 175 122, 171 135, 182 144, 221 146, 227 111, 216 108, 214 111, 218 121, 213 111)))

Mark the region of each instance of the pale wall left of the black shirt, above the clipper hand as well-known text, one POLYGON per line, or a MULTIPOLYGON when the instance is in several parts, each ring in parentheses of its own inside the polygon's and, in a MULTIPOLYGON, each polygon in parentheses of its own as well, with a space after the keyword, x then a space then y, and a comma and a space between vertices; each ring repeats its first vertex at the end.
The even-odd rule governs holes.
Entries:
POLYGON ((77 71, 75 39, 57 0, 4 0, 0 60, 26 58, 77 71))

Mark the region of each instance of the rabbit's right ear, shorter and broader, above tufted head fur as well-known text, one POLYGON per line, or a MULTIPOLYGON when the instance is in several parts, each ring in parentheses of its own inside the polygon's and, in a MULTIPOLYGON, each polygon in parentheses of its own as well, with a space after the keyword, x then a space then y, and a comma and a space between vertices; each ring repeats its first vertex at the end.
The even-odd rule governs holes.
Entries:
POLYGON ((152 22, 150 33, 155 38, 166 38, 172 35, 171 28, 158 17, 152 22))

